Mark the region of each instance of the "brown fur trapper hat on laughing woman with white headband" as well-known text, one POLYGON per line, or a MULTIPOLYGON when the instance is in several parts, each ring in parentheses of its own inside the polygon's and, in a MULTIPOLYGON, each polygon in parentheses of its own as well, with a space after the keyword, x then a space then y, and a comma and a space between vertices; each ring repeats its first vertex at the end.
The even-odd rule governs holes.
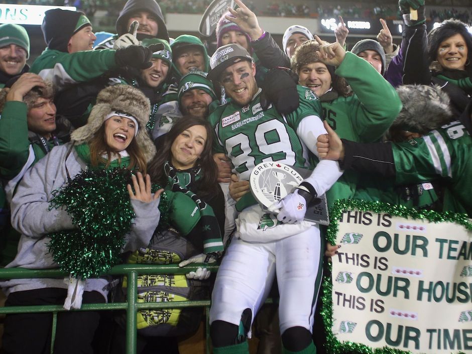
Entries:
POLYGON ((108 86, 98 92, 97 101, 88 116, 87 124, 76 129, 71 134, 71 140, 78 144, 88 143, 112 110, 120 110, 136 117, 139 128, 136 142, 142 149, 146 161, 151 161, 156 154, 156 148, 146 130, 151 104, 143 92, 130 85, 108 86))

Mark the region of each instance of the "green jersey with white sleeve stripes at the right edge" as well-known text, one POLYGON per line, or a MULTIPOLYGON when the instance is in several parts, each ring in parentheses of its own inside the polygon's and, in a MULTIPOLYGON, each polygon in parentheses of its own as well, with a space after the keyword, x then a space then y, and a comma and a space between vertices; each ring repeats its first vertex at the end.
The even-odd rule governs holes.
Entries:
POLYGON ((461 122, 406 143, 392 144, 396 184, 445 182, 443 210, 472 216, 472 138, 461 122))

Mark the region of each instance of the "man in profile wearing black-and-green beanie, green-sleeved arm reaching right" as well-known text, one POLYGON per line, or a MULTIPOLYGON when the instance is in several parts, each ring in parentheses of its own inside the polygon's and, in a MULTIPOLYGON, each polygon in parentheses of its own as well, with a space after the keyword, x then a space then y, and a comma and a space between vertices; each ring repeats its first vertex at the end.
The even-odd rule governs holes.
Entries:
POLYGON ((122 66, 146 69, 152 53, 163 49, 131 45, 119 50, 91 51, 96 39, 84 14, 61 9, 48 10, 41 25, 46 50, 35 60, 31 72, 53 82, 56 92, 77 82, 89 81, 122 66))

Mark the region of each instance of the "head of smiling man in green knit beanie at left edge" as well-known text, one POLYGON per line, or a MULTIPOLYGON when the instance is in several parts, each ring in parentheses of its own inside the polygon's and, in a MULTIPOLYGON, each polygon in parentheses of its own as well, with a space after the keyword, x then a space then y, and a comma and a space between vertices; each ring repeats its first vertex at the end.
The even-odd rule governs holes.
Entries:
POLYGON ((0 88, 13 76, 29 70, 26 60, 30 56, 30 38, 19 25, 0 26, 0 88))

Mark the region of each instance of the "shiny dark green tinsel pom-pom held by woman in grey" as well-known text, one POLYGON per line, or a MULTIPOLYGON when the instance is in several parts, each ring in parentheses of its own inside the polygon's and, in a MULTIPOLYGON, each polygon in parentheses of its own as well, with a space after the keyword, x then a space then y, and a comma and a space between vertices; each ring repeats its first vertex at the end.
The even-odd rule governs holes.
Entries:
MULTIPOLYGON (((81 171, 54 191, 51 208, 65 206, 77 230, 50 233, 49 252, 74 278, 96 277, 120 262, 135 213, 126 185, 132 172, 116 167, 81 171)), ((153 186, 157 190, 158 186, 153 186)), ((168 223, 167 197, 161 195, 161 219, 168 223)))

